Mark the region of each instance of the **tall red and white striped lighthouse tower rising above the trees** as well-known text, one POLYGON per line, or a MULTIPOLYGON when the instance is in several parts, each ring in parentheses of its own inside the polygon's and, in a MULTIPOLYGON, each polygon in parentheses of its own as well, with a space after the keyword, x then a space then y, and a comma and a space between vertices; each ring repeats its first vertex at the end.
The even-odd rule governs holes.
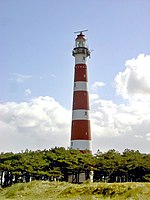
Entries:
POLYGON ((86 44, 84 31, 75 39, 72 55, 75 57, 74 91, 72 106, 71 148, 92 152, 91 128, 89 119, 89 93, 87 57, 90 51, 86 44))

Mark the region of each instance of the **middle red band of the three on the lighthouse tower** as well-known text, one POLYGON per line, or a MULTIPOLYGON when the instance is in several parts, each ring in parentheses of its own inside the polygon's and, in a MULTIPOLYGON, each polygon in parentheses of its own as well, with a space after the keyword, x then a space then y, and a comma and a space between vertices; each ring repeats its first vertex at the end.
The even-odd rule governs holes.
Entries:
POLYGON ((89 110, 89 93, 87 91, 74 91, 73 110, 89 110))

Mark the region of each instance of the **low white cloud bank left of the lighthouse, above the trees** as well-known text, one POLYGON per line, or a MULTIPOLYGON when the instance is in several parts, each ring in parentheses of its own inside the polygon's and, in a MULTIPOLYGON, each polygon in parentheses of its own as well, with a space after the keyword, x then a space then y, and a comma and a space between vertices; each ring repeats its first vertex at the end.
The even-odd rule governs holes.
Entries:
POLYGON ((0 104, 0 151, 67 146, 70 112, 52 97, 0 104))

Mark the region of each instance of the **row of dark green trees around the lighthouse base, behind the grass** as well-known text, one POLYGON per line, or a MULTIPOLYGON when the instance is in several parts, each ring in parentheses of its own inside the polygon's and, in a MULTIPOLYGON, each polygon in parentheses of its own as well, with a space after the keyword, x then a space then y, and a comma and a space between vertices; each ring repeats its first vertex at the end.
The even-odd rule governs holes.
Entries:
POLYGON ((0 154, 4 187, 31 180, 67 182, 69 173, 88 173, 91 169, 94 171, 94 182, 149 182, 150 154, 129 149, 119 153, 113 149, 104 153, 97 151, 92 155, 63 147, 0 154))

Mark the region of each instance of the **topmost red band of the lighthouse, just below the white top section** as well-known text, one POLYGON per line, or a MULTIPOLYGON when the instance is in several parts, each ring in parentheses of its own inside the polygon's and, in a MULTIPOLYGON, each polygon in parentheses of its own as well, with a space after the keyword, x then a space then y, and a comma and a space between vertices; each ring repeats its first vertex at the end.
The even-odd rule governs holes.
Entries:
POLYGON ((87 66, 86 64, 76 64, 74 73, 74 82, 88 81, 87 66))

